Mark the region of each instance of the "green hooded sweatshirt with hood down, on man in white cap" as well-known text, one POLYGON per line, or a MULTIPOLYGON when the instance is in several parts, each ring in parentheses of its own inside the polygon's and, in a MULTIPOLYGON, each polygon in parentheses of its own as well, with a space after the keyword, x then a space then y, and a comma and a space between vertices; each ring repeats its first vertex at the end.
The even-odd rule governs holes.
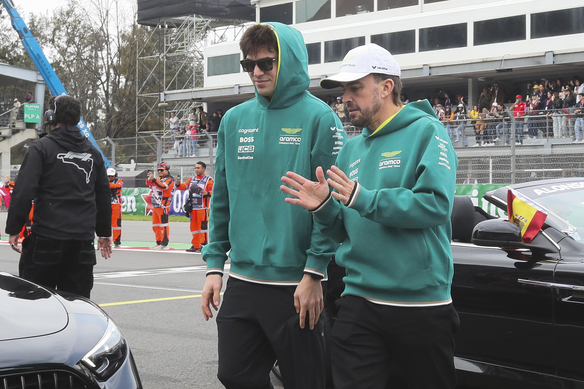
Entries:
POLYGON ((357 183, 347 206, 335 199, 314 213, 342 243, 343 295, 379 304, 449 304, 450 250, 458 159, 427 100, 404 106, 340 150, 337 166, 357 183))

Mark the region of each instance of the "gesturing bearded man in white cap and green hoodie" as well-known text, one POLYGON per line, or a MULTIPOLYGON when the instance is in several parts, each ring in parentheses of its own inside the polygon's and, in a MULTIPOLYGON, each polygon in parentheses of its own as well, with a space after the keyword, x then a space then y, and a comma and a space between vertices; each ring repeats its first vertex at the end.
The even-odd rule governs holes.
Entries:
POLYGON ((340 150, 328 180, 321 168, 317 180, 282 177, 293 196, 286 202, 313 210, 321 231, 342 243, 336 389, 384 388, 392 362, 411 389, 456 386, 450 213, 458 160, 427 100, 402 106, 400 74, 376 44, 350 50, 321 86, 343 88, 363 133, 340 150))

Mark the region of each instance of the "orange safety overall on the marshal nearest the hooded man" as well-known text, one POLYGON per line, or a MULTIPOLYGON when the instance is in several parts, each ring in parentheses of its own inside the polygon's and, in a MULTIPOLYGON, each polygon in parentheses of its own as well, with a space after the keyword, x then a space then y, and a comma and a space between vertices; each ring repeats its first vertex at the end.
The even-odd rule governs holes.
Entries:
POLYGON ((192 199, 193 211, 190 212, 190 233, 193 238, 190 243, 193 248, 199 248, 208 242, 209 203, 213 192, 213 178, 206 174, 200 177, 189 177, 185 183, 178 185, 176 188, 182 191, 187 189, 191 191, 189 198, 192 199), (192 185, 197 185, 201 190, 207 191, 208 194, 194 193, 192 185))

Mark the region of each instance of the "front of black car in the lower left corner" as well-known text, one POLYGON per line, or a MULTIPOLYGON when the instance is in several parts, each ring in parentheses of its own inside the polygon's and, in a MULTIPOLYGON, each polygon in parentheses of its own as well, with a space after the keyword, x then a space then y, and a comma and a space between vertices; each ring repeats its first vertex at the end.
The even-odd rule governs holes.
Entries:
POLYGON ((91 301, 0 272, 0 389, 140 389, 126 339, 91 301))

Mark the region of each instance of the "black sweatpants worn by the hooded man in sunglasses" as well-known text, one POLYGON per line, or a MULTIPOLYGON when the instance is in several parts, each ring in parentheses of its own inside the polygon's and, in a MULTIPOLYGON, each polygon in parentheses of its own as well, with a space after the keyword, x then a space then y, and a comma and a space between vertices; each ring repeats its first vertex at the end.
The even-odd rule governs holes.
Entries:
POLYGON ((219 368, 227 389, 269 389, 276 359, 286 389, 324 389, 322 321, 300 328, 294 286, 230 277, 217 314, 219 368))

